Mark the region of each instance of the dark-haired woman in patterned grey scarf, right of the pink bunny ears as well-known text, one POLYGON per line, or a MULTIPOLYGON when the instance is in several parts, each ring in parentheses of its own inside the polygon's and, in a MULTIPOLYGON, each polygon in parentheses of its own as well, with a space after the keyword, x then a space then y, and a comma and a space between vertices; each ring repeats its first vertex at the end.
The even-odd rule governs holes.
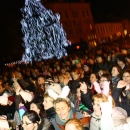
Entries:
POLYGON ((113 66, 111 70, 111 89, 116 88, 117 83, 120 81, 122 75, 122 70, 119 66, 113 66))

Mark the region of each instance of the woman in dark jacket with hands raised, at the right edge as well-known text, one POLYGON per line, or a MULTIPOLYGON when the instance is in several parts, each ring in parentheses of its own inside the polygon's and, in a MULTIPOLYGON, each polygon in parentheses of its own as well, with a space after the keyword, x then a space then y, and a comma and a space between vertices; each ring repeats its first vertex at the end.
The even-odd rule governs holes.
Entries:
POLYGON ((112 96, 116 105, 125 109, 130 116, 130 70, 125 70, 117 84, 117 88, 113 90, 112 96))

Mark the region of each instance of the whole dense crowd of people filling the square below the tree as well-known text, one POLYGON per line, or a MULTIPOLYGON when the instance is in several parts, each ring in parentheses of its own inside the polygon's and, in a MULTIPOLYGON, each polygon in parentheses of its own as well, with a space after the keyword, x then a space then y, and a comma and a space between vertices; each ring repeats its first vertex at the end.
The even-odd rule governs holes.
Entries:
POLYGON ((2 68, 0 129, 130 130, 130 52, 121 47, 2 68))

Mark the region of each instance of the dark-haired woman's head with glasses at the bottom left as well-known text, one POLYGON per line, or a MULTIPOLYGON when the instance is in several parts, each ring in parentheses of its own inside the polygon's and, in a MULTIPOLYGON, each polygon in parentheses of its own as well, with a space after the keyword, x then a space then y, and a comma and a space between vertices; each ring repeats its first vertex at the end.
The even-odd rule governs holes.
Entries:
POLYGON ((22 127, 24 130, 37 130, 40 117, 35 111, 29 110, 24 113, 22 127))

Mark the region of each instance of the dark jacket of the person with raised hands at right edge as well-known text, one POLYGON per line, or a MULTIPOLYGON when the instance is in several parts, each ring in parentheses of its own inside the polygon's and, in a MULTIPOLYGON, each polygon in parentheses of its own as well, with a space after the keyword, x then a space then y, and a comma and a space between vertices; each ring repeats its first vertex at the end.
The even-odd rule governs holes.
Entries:
POLYGON ((115 88, 112 92, 112 96, 116 102, 116 106, 119 106, 126 110, 128 116, 130 116, 130 104, 128 102, 127 97, 121 96, 122 88, 115 88), (121 98, 121 102, 119 102, 119 97, 121 98))

